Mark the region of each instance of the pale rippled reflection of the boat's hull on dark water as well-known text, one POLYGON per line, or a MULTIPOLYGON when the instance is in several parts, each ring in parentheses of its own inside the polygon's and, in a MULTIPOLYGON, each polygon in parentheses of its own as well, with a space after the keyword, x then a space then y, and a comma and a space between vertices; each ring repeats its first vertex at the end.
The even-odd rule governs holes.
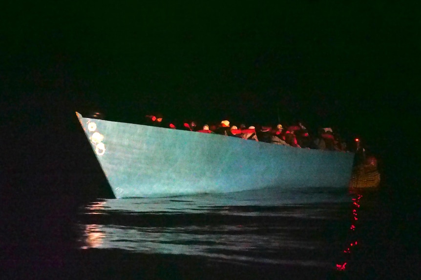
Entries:
POLYGON ((102 200, 84 208, 81 247, 328 267, 350 201, 334 188, 102 200))

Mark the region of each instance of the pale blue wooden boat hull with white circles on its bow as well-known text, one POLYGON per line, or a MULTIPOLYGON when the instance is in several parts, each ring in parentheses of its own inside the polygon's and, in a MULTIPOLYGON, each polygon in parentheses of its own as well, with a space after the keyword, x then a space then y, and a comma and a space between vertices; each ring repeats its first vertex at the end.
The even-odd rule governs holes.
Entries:
POLYGON ((76 115, 116 198, 348 187, 351 178, 352 152, 76 115))

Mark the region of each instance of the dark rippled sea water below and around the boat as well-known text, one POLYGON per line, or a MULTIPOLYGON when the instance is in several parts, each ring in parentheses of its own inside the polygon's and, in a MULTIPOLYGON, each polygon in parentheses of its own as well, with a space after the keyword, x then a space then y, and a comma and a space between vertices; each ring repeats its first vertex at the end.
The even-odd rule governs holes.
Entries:
POLYGON ((9 201, 1 279, 420 279, 420 209, 397 200, 272 188, 9 201))

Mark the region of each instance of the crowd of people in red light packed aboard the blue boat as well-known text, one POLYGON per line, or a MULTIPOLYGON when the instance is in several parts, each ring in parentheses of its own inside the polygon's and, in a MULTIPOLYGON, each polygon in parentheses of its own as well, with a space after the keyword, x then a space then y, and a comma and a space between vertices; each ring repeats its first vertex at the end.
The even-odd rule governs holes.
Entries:
POLYGON ((332 128, 320 128, 316 135, 312 135, 301 123, 290 126, 277 124, 276 126, 249 126, 244 124, 232 125, 230 121, 223 120, 219 124, 198 126, 195 121, 184 122, 182 125, 164 122, 162 115, 147 115, 147 124, 196 131, 202 133, 215 133, 246 140, 285 145, 296 148, 348 151, 346 142, 332 128))

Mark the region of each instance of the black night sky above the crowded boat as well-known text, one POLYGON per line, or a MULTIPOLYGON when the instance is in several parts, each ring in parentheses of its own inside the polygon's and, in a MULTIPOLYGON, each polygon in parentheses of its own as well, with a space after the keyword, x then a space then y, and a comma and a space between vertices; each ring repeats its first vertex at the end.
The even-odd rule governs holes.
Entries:
POLYGON ((132 122, 162 112, 275 123, 279 108, 284 124, 376 141, 416 117, 416 4, 133 3, 9 4, 3 104, 24 92, 42 106, 132 122))

